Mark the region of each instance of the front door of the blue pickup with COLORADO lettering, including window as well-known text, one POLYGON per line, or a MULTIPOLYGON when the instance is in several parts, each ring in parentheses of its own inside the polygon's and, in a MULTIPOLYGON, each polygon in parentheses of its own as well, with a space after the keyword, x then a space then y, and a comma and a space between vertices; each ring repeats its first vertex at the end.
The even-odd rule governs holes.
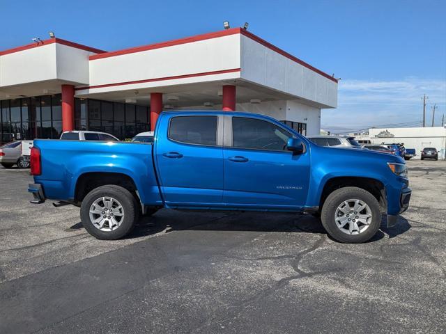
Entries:
POLYGON ((224 116, 224 191, 228 207, 300 209, 307 200, 309 152, 286 150, 297 137, 279 122, 224 116))

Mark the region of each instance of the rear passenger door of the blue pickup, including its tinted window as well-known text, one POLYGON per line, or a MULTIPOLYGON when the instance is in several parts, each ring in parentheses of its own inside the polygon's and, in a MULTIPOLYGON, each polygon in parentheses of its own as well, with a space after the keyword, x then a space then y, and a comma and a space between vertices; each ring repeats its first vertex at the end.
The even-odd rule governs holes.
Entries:
POLYGON ((222 116, 174 113, 160 117, 158 122, 154 145, 166 204, 222 205, 222 116))

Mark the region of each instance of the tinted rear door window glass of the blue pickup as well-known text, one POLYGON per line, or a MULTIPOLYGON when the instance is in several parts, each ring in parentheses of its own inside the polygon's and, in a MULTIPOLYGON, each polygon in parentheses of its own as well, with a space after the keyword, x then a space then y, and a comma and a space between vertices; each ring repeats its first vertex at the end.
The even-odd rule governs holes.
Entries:
POLYGON ((194 145, 217 145, 217 116, 172 117, 169 139, 194 145))

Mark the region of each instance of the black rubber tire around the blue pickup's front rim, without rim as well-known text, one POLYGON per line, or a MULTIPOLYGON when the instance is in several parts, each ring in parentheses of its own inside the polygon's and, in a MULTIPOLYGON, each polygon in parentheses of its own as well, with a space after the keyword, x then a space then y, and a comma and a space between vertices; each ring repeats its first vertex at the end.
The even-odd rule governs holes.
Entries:
POLYGON ((330 193, 325 200, 321 212, 321 221, 325 230, 334 240, 348 244, 360 244, 371 239, 378 232, 381 223, 381 212, 378 200, 369 191, 355 186, 346 186, 345 188, 337 189, 330 193), (334 215, 339 205, 351 199, 362 200, 371 210, 369 227, 359 234, 346 234, 342 232, 334 220, 334 215))

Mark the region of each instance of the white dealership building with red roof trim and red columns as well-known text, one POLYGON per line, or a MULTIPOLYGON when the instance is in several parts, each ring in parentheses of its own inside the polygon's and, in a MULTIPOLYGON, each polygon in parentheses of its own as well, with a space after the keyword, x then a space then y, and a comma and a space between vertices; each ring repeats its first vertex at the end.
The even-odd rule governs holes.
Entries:
POLYGON ((0 51, 0 143, 89 129, 131 138, 164 110, 247 111, 319 134, 337 79, 241 28, 118 51, 60 38, 0 51))

